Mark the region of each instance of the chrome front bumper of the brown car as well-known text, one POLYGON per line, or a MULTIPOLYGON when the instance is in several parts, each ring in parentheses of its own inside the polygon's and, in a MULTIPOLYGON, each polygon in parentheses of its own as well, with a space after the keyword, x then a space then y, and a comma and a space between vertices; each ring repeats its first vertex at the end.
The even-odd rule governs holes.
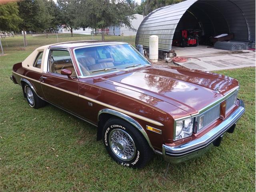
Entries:
POLYGON ((226 120, 210 130, 204 136, 178 146, 162 145, 164 160, 172 163, 180 163, 190 158, 200 156, 206 152, 212 142, 222 134, 235 126, 238 119, 244 114, 244 102, 240 100, 239 108, 234 111, 226 120))

